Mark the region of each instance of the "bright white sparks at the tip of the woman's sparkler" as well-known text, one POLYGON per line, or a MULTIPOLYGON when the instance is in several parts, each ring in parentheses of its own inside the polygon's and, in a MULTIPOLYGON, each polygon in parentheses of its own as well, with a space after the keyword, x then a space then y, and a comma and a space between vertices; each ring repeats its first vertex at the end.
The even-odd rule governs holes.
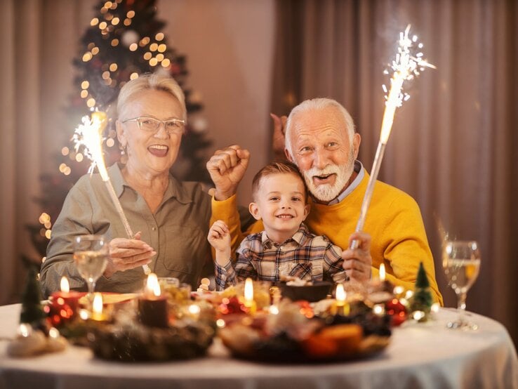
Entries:
POLYGON ((78 151, 81 146, 84 147, 84 154, 91 159, 92 164, 88 173, 93 173, 93 169, 97 166, 103 181, 109 180, 106 170, 105 159, 102 156, 102 131, 107 125, 107 116, 105 112, 92 112, 91 119, 84 116, 81 121, 83 124, 77 126, 74 133, 75 150, 78 151))

